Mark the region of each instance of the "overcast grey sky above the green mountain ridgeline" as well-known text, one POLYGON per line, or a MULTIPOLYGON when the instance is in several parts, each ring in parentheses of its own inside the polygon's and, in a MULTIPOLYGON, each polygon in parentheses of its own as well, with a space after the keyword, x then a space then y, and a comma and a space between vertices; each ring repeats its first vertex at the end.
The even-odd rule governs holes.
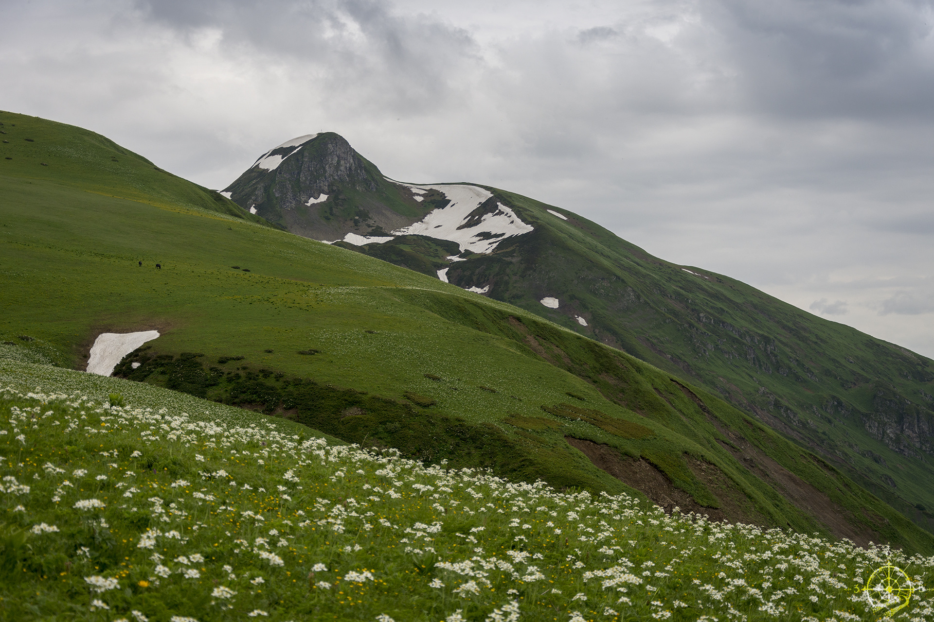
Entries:
POLYGON ((0 108, 207 187, 336 131, 934 357, 934 0, 0 7, 0 108))

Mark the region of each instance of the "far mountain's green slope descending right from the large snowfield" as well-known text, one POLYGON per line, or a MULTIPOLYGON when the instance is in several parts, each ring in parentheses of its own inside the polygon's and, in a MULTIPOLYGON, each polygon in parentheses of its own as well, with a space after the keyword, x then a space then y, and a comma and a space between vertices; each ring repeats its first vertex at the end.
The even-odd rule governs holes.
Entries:
POLYGON ((727 276, 650 256, 576 214, 486 188, 535 230, 456 263, 413 236, 343 245, 426 274, 448 268, 450 283, 488 286, 489 297, 690 378, 934 530, 929 359, 727 276), (559 309, 542 297, 558 297, 559 309))

